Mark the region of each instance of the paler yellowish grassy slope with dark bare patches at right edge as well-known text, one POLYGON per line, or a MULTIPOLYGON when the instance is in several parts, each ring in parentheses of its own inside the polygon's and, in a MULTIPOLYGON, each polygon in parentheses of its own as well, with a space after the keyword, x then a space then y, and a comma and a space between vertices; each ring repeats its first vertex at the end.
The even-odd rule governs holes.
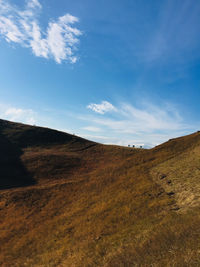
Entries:
POLYGON ((200 143, 159 164, 151 175, 168 194, 174 194, 180 212, 200 206, 200 143))

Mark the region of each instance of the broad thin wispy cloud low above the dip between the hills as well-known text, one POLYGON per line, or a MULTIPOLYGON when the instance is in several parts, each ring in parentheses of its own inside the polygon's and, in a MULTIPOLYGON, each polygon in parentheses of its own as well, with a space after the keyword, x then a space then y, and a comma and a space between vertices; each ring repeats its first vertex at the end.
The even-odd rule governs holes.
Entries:
MULTIPOLYGON (((92 110, 97 112, 93 108, 92 110)), ((138 108, 122 103, 115 110, 115 118, 105 114, 104 117, 90 115, 80 119, 89 121, 93 127, 101 128, 105 136, 121 145, 130 143, 155 146, 169 138, 195 130, 195 127, 184 121, 173 105, 163 104, 160 107, 148 103, 138 108)))

